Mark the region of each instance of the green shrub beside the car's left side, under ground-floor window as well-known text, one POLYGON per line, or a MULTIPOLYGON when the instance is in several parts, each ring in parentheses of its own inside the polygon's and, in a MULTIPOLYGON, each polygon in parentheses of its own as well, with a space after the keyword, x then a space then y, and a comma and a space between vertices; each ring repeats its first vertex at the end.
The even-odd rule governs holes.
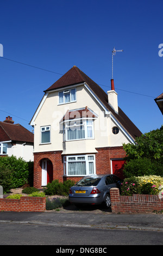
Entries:
POLYGON ((59 182, 58 180, 53 180, 52 183, 47 184, 47 188, 45 189, 45 194, 59 196, 67 196, 69 194, 69 189, 74 185, 74 181, 66 180, 64 183, 59 182))

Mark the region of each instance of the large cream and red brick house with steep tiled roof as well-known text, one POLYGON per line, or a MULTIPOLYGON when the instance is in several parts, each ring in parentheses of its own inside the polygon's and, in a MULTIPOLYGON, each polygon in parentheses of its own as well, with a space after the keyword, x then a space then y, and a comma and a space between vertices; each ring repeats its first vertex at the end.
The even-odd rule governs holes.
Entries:
POLYGON ((89 174, 122 177, 122 144, 142 134, 118 107, 114 80, 105 93, 77 66, 45 90, 30 125, 37 188, 89 174))

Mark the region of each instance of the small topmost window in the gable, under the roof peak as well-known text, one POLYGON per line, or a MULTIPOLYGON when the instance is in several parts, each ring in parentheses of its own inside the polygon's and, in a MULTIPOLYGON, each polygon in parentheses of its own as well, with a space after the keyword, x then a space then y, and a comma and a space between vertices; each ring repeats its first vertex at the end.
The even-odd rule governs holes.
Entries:
POLYGON ((76 101, 76 88, 66 89, 59 92, 59 104, 76 101))

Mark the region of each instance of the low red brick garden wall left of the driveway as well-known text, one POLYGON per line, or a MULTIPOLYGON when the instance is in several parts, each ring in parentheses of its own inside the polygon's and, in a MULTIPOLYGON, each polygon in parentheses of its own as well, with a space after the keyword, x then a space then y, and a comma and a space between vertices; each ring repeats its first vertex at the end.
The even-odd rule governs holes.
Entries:
POLYGON ((45 197, 21 197, 20 199, 0 198, 0 211, 33 211, 46 210, 45 197))

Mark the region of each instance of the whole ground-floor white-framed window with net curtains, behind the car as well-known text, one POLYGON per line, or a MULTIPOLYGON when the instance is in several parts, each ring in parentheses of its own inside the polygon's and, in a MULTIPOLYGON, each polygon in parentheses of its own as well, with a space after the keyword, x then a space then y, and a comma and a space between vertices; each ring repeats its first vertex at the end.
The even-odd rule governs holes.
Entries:
POLYGON ((65 175, 84 176, 95 173, 95 155, 64 156, 65 175))

